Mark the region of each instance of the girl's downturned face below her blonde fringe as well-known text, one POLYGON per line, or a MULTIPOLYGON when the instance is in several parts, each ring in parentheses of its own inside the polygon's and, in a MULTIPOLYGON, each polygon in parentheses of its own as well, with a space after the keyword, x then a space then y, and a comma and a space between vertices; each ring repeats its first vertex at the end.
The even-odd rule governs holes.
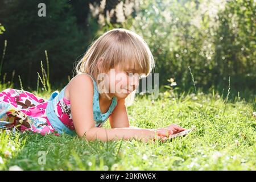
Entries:
POLYGON ((126 65, 125 68, 115 67, 110 69, 106 74, 108 79, 105 80, 105 85, 108 85, 106 90, 109 90, 109 96, 115 96, 118 99, 126 98, 131 92, 137 89, 141 73, 136 71, 132 65, 126 65))

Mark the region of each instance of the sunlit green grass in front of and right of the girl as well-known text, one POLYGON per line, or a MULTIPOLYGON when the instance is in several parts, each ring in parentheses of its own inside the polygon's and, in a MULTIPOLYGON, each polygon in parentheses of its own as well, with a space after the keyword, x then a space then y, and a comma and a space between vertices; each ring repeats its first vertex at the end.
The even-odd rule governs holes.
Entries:
MULTIPOLYGON (((186 137, 165 143, 87 142, 66 134, 57 137, 2 131, 0 169, 255 170, 256 100, 225 100, 226 96, 214 92, 178 96, 172 91, 160 93, 154 102, 147 96, 136 98, 127 109, 131 126, 196 126, 186 137), (40 164, 40 151, 46 154, 45 164, 40 164)), ((109 128, 109 123, 104 127, 109 128)))

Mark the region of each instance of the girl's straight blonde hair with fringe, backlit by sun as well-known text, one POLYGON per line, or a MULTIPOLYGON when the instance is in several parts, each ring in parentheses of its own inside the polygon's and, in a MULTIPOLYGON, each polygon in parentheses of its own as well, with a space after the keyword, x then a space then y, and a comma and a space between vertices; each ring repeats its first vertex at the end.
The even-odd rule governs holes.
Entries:
MULTIPOLYGON (((76 74, 88 73, 96 80, 100 73, 109 72, 110 69, 121 65, 134 64, 141 77, 147 77, 155 68, 155 61, 150 48, 141 36, 124 28, 114 28, 105 32, 96 39, 85 52, 85 55, 76 65, 76 74), (101 70, 98 69, 98 61, 101 62, 101 70)), ((134 101, 136 89, 129 94, 126 105, 134 101)), ((108 95, 106 95, 108 97, 108 95)))

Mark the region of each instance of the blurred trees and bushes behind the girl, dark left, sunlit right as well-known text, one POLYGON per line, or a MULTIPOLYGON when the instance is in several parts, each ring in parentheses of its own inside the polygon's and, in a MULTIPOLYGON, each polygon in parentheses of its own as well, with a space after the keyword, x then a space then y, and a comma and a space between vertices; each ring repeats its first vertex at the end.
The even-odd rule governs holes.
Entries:
POLYGON ((256 92, 255 1, 0 1, 1 81, 35 89, 40 61, 63 86, 90 43, 112 28, 137 32, 155 57, 160 86, 256 92), (38 16, 38 4, 46 16, 38 16), (7 42, 5 41, 7 40, 7 42), (6 46, 5 46, 6 44, 6 46), (2 56, 4 55, 4 56, 2 56), (189 67, 189 68, 188 68, 189 67), (5 76, 4 76, 5 75, 5 76))

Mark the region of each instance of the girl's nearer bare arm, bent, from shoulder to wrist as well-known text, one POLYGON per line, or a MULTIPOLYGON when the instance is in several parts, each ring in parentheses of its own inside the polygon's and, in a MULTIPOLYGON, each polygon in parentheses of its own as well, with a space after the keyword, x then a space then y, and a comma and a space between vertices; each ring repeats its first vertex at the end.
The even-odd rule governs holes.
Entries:
POLYGON ((88 75, 77 75, 70 82, 69 97, 73 124, 79 137, 87 140, 142 139, 147 141, 155 137, 154 129, 120 127, 104 129, 95 127, 93 121, 93 82, 88 75))

